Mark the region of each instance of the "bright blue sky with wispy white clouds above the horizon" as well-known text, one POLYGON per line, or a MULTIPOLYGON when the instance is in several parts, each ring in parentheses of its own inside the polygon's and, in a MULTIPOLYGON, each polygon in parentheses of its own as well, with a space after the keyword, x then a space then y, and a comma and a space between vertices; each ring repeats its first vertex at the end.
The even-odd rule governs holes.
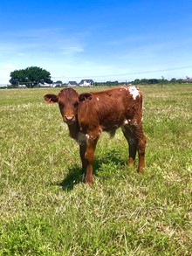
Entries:
POLYGON ((4 0, 0 84, 39 66, 54 81, 192 77, 192 1, 4 0))

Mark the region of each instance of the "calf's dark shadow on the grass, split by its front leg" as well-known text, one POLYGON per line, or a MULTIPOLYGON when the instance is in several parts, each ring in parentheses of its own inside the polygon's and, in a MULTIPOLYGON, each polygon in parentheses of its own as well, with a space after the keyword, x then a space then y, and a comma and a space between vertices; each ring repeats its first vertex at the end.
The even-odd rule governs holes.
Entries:
MULTIPOLYGON (((93 162, 93 175, 98 176, 98 172, 102 164, 113 163, 114 165, 125 166, 126 161, 120 159, 119 154, 113 154, 114 150, 107 151, 104 156, 99 159, 95 159, 93 162)), ((116 153, 116 152, 115 152, 116 153)), ((68 174, 65 176, 65 179, 57 183, 58 186, 61 186, 63 190, 70 191, 73 190, 74 186, 78 183, 83 183, 85 178, 86 171, 82 170, 79 166, 74 165, 69 169, 68 174)))

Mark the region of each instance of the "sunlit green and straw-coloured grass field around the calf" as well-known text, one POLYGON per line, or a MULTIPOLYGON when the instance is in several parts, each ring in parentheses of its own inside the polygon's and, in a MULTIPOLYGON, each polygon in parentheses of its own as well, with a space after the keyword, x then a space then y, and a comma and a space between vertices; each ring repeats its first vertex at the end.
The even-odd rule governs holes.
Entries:
POLYGON ((145 172, 103 133, 92 188, 58 90, 0 90, 0 255, 191 255, 192 86, 141 86, 145 172))

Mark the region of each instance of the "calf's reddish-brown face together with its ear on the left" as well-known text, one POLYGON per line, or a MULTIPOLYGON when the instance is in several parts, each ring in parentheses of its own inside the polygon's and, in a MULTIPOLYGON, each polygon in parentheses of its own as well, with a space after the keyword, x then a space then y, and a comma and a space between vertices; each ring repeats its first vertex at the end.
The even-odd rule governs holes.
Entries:
POLYGON ((61 90, 58 95, 45 94, 44 99, 48 103, 58 102, 60 113, 66 124, 72 125, 77 121, 79 94, 75 90, 72 88, 65 88, 61 90))

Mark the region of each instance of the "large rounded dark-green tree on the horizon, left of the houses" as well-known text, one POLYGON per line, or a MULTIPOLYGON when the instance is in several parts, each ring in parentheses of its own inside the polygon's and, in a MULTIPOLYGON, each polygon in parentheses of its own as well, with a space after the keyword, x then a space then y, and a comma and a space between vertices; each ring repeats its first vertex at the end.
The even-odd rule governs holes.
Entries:
POLYGON ((39 82, 51 84, 51 73, 38 66, 31 66, 10 73, 10 84, 12 86, 21 84, 27 87, 34 87, 39 82))

